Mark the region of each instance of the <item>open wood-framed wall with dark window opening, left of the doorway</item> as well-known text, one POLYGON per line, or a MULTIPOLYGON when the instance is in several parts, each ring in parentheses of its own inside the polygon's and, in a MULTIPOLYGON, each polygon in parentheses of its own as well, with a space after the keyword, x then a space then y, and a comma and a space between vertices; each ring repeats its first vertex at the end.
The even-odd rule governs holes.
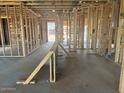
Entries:
POLYGON ((0 57, 23 57, 42 43, 41 18, 19 5, 0 5, 0 57))

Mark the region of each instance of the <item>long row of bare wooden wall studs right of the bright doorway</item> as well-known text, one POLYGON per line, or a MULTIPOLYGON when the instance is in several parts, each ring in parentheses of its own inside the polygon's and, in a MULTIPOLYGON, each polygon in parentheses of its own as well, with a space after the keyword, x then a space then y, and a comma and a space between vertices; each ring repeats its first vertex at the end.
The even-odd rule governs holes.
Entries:
POLYGON ((70 50, 86 48, 100 55, 111 54, 115 48, 112 45, 115 46, 117 32, 117 6, 116 2, 103 3, 62 13, 58 17, 59 40, 70 50), (67 27, 66 31, 63 26, 67 27))

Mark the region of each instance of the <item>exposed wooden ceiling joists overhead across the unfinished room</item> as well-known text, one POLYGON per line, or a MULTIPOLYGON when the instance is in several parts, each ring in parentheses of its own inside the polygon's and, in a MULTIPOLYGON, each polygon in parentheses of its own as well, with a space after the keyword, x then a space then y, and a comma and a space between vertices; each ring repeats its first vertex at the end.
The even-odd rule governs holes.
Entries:
POLYGON ((99 5, 108 0, 0 0, 0 5, 18 5, 23 3, 29 9, 39 14, 55 11, 72 11, 73 8, 99 5))

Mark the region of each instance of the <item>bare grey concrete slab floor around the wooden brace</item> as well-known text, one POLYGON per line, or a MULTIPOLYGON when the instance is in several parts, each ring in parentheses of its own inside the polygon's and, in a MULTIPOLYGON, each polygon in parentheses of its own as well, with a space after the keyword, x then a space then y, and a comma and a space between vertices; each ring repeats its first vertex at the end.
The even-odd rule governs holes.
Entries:
POLYGON ((26 58, 0 58, 0 93, 117 93, 120 67, 86 50, 71 58, 58 57, 56 83, 49 83, 47 64, 35 77, 35 85, 16 85, 38 64, 41 51, 26 58))

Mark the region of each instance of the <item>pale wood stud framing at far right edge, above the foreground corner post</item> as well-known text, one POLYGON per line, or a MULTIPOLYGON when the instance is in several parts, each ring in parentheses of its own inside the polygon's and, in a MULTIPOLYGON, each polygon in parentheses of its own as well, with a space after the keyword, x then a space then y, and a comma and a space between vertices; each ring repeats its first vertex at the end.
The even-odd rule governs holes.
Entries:
POLYGON ((124 1, 121 0, 119 27, 116 37, 115 62, 122 64, 122 49, 124 48, 124 1))

